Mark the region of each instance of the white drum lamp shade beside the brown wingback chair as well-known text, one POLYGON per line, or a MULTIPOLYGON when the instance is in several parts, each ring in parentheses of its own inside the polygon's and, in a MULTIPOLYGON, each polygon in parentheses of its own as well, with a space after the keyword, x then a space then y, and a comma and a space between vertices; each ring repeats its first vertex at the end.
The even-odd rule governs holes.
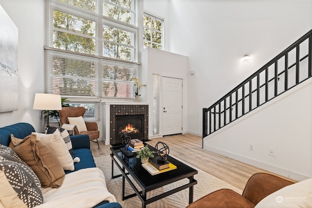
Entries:
POLYGON ((34 106, 35 110, 62 110, 60 95, 36 93, 34 106))

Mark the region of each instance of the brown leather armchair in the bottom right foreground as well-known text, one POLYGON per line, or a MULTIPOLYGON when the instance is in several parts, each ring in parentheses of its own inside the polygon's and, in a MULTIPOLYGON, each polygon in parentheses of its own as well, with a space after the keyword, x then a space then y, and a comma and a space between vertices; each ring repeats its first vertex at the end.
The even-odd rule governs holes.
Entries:
POLYGON ((240 195, 231 189, 219 189, 196 200, 187 208, 254 208, 262 199, 293 182, 269 173, 252 175, 240 195))

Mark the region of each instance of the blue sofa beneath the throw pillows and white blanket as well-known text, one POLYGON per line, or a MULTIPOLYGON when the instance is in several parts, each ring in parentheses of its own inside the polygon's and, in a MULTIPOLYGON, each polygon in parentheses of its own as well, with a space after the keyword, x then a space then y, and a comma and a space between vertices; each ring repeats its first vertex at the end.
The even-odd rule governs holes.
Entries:
MULTIPOLYGON (((34 127, 29 123, 17 123, 10 126, 2 127, 0 128, 0 144, 8 147, 11 142, 11 134, 13 134, 17 138, 24 138, 31 134, 31 132, 36 131, 34 127)), ((73 171, 96 167, 92 152, 90 151, 89 136, 76 135, 70 137, 73 145, 73 156, 74 158, 80 158, 80 162, 74 164, 75 170, 73 171)), ((65 170, 65 174, 73 171, 65 170)), ((94 208, 121 208, 121 205, 115 202, 109 203, 108 201, 103 201, 96 205, 94 208)))

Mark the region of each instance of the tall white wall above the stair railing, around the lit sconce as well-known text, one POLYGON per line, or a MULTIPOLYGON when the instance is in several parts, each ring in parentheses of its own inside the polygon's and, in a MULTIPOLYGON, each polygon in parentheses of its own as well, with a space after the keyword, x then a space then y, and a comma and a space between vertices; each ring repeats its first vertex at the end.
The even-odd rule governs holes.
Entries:
POLYGON ((201 135, 202 108, 311 30, 311 9, 311 0, 170 0, 167 49, 188 56, 195 70, 188 79, 188 131, 201 135), (241 62, 245 54, 251 59, 241 62))

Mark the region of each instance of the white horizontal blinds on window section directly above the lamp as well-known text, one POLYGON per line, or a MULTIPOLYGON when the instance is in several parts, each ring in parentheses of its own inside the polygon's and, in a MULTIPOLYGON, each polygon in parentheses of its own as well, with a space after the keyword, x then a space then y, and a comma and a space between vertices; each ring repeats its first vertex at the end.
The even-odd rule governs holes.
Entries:
POLYGON ((97 58, 63 52, 45 51, 48 75, 47 91, 71 96, 99 96, 97 58))

